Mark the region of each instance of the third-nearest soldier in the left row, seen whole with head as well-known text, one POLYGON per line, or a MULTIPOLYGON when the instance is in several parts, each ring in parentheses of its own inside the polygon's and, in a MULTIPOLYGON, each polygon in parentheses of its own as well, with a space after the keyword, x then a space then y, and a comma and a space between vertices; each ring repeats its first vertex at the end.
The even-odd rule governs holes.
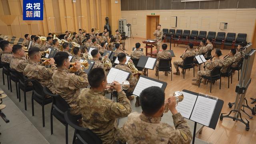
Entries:
POLYGON ((66 52, 58 52, 54 56, 58 70, 52 75, 56 93, 59 94, 69 104, 72 115, 80 115, 80 107, 78 103, 78 95, 80 88, 88 86, 87 74, 81 69, 80 62, 76 62, 74 68, 77 70, 77 75, 70 73, 68 54, 66 52))

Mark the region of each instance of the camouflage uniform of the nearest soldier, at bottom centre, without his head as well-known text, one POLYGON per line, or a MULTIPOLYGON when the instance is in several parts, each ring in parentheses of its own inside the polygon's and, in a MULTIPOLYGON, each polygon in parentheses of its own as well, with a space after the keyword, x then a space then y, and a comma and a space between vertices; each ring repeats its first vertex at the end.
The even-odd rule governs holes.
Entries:
POLYGON ((128 144, 190 144, 192 134, 180 113, 172 116, 174 126, 160 122, 161 117, 150 117, 133 112, 122 127, 122 137, 128 144))

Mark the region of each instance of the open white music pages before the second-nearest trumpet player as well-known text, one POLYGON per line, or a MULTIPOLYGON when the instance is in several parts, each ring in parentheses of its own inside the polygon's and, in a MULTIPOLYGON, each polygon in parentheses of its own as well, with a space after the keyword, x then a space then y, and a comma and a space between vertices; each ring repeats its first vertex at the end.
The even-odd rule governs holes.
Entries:
POLYGON ((112 67, 108 72, 107 82, 112 83, 114 81, 117 81, 120 84, 122 84, 122 82, 127 80, 129 76, 130 76, 129 72, 112 67))

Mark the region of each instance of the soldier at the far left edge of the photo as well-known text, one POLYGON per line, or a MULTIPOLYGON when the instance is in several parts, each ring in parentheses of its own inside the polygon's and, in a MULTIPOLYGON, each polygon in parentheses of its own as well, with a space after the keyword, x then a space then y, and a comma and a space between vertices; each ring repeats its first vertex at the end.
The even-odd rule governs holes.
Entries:
POLYGON ((1 50, 3 50, 2 56, 1 56, 1 62, 10 64, 13 58, 12 46, 10 45, 10 42, 7 40, 2 40, 0 41, 0 47, 1 47, 1 50))

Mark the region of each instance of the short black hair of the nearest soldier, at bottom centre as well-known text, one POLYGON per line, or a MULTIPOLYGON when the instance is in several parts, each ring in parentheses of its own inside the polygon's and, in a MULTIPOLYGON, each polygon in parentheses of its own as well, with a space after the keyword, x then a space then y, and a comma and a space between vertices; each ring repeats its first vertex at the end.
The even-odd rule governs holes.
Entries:
POLYGON ((142 90, 140 105, 144 114, 155 114, 164 105, 164 92, 158 86, 150 86, 142 90))

